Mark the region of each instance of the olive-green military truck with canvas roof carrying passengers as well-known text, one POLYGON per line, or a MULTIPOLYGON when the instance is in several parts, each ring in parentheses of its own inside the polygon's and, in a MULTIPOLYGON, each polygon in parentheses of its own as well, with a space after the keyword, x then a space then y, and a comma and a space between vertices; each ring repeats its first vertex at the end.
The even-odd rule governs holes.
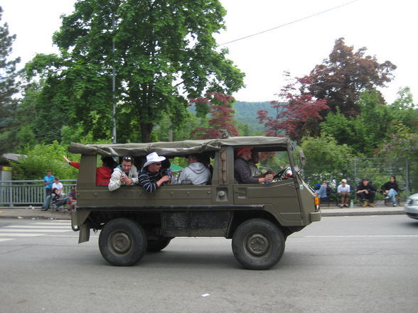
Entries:
MULTIPOLYGON (((174 237, 232 238, 235 258, 245 268, 265 270, 284 253, 286 237, 313 221, 321 220, 318 197, 295 167, 288 138, 229 137, 195 141, 82 145, 77 209, 72 213, 79 243, 88 241, 90 230, 100 230, 99 248, 111 265, 137 263, 146 253, 161 251, 174 237), (279 168, 269 184, 238 184, 234 179, 235 153, 252 147, 274 158, 279 168), (109 192, 95 185, 101 156, 129 155, 136 165, 149 153, 169 160, 203 153, 210 157, 213 175, 208 185, 175 184, 151 194, 141 186, 122 186, 109 192), (292 177, 284 177, 291 170, 292 177)), ((304 165, 304 155, 299 161, 304 165)), ((143 163, 142 163, 143 164, 143 163)))

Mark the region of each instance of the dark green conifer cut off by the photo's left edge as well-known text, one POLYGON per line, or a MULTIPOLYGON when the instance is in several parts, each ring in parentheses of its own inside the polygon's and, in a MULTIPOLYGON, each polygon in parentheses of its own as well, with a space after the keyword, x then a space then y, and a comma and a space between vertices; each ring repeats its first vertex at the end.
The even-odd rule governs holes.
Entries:
MULTIPOLYGON (((0 6, 0 21, 2 13, 0 6)), ((16 140, 12 128, 15 126, 14 111, 18 103, 14 94, 19 91, 16 64, 20 62, 20 58, 9 60, 15 38, 16 35, 9 35, 7 23, 0 25, 0 155, 14 150, 16 140)))

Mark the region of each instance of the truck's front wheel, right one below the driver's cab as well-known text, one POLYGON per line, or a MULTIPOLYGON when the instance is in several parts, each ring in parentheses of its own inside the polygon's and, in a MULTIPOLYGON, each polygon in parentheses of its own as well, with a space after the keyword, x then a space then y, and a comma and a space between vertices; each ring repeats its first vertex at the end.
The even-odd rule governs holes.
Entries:
POLYGON ((232 236, 232 251, 242 266, 250 270, 268 270, 284 252, 284 236, 267 219, 249 219, 232 236))

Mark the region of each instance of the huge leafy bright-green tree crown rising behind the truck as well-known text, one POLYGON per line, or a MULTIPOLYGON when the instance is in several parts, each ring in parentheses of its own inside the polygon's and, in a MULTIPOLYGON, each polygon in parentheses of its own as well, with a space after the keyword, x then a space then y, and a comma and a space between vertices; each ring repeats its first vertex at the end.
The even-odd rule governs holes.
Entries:
POLYGON ((213 38, 225 13, 218 0, 78 0, 53 36, 60 55, 36 55, 26 72, 45 77, 45 106, 109 138, 114 70, 118 139, 147 142, 164 116, 181 125, 188 98, 242 87, 213 38))

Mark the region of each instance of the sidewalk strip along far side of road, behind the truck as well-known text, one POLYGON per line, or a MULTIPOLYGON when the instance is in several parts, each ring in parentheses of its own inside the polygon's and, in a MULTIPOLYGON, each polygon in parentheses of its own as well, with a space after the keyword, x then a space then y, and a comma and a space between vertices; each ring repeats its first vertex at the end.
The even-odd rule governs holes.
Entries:
MULTIPOLYGON (((404 214, 404 207, 385 207, 377 203, 376 207, 321 207, 322 216, 358 216, 358 215, 393 215, 404 214)), ((70 219, 68 212, 41 211, 41 207, 0 207, 0 218, 3 219, 70 219)))

